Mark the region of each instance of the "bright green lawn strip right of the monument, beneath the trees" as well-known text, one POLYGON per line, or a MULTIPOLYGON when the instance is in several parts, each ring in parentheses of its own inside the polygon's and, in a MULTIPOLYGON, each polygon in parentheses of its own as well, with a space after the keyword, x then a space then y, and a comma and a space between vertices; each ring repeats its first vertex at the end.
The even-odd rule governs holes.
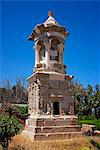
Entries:
POLYGON ((100 130, 100 119, 84 119, 79 120, 78 124, 92 124, 95 125, 98 130, 100 130))

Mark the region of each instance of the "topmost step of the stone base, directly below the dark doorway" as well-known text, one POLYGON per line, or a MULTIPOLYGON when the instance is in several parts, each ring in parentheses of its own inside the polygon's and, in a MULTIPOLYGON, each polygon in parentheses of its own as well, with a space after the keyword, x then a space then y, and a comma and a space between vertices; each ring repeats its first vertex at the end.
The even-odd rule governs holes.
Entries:
POLYGON ((76 125, 77 117, 75 115, 66 116, 30 116, 28 118, 28 124, 33 126, 66 126, 66 125, 76 125))

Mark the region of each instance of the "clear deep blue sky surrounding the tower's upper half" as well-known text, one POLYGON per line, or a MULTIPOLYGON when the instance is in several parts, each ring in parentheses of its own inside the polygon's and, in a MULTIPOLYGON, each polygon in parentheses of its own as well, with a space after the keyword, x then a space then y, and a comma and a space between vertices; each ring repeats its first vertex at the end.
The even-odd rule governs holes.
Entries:
POLYGON ((49 10, 69 31, 64 49, 67 73, 84 86, 100 82, 100 3, 98 1, 2 1, 0 84, 28 77, 34 66, 34 43, 27 38, 49 10))

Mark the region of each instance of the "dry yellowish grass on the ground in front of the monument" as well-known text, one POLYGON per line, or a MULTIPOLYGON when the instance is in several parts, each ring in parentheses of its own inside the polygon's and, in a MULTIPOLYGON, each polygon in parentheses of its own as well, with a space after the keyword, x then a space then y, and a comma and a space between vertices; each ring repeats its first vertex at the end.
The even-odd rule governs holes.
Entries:
MULTIPOLYGON (((95 140, 99 141, 100 138, 95 140)), ((28 138, 17 135, 13 138, 8 150, 83 150, 85 147, 88 147, 87 149, 91 147, 91 150, 96 150, 86 137, 59 141, 31 142, 28 138)))

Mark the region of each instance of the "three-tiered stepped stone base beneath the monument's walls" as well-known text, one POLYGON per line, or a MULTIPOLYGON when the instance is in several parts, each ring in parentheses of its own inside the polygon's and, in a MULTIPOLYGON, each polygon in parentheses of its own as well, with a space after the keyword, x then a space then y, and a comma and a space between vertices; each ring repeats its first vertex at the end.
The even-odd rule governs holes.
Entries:
POLYGON ((82 135, 75 115, 31 115, 26 120, 23 135, 32 141, 63 140, 82 135))

